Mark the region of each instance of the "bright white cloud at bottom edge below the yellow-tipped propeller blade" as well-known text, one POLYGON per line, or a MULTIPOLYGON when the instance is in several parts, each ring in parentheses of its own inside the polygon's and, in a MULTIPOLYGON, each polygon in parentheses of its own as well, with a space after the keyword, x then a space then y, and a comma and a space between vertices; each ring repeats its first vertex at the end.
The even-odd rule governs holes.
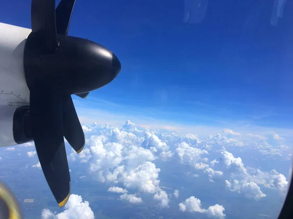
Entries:
POLYGON ((83 201, 79 195, 71 194, 64 206, 64 211, 57 214, 49 209, 42 210, 42 219, 94 219, 88 201, 83 201))

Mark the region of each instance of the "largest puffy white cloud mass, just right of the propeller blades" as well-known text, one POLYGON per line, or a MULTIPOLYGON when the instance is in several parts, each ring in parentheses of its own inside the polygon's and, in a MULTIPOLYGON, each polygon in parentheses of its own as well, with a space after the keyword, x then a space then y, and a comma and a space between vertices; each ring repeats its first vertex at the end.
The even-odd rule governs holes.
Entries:
MULTIPOLYGON (((144 134, 133 126, 128 121, 121 129, 102 128, 100 135, 92 135, 86 139, 84 151, 87 151, 84 155, 80 156, 73 152, 68 157, 71 161, 86 160, 91 176, 98 181, 121 183, 125 188, 114 186, 108 191, 126 193, 126 189, 137 189, 155 194, 155 200, 160 201, 161 206, 165 206, 168 199, 165 196, 166 192, 159 185, 160 169, 156 168, 152 161, 158 158, 154 154, 159 155, 162 160, 167 160, 173 153, 167 150, 167 144, 154 133, 146 131, 144 134)), ((97 127, 93 127, 92 131, 94 128, 97 127)), ((141 200, 129 194, 121 196, 121 199, 133 203, 141 200)))

